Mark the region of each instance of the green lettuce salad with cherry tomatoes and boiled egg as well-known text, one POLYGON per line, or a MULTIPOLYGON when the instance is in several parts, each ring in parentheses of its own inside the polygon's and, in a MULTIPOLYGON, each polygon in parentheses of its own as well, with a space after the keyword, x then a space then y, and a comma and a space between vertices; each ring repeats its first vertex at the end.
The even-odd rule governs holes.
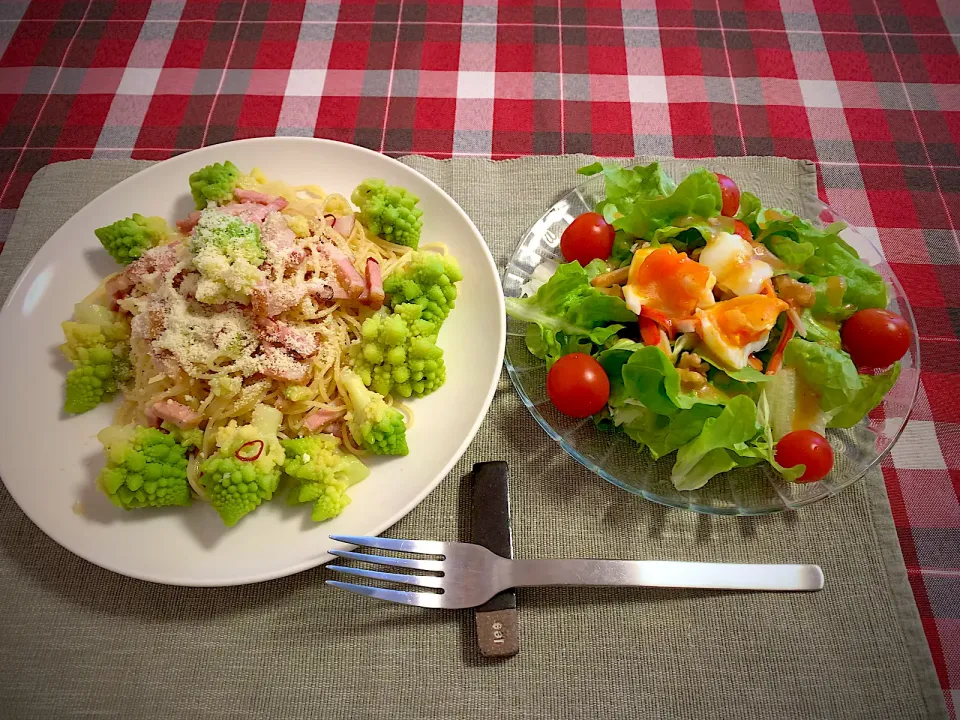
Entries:
POLYGON ((828 428, 861 422, 893 387, 911 331, 840 236, 764 207, 730 178, 679 182, 657 163, 594 163, 605 197, 507 298, 528 323, 558 411, 626 433, 694 490, 769 463, 812 482, 833 469, 828 428))

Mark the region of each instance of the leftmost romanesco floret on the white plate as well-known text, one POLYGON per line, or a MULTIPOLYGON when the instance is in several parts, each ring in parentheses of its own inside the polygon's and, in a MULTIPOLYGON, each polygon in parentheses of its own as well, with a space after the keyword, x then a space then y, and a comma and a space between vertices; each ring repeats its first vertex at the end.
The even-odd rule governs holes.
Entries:
POLYGON ((130 327, 103 305, 78 303, 73 315, 76 320, 61 324, 66 342, 60 351, 73 363, 63 409, 79 414, 110 400, 130 379, 130 327))

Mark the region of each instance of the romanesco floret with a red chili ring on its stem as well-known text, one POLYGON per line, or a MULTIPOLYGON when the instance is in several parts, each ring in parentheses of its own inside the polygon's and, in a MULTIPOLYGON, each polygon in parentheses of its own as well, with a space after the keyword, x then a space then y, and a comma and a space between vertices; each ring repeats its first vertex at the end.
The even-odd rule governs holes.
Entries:
POLYGON ((277 438, 282 420, 276 408, 257 405, 249 425, 231 420, 217 431, 217 452, 200 464, 200 472, 210 504, 224 525, 236 525, 273 497, 285 458, 277 438))

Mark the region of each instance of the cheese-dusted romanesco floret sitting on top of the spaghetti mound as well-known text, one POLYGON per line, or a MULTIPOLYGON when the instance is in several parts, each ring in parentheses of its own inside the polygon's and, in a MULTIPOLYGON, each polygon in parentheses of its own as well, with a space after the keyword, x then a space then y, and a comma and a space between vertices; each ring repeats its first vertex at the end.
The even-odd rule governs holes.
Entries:
POLYGON ((260 228, 233 215, 204 210, 190 250, 200 272, 196 289, 200 302, 246 302, 250 289, 265 277, 259 269, 266 257, 260 228))

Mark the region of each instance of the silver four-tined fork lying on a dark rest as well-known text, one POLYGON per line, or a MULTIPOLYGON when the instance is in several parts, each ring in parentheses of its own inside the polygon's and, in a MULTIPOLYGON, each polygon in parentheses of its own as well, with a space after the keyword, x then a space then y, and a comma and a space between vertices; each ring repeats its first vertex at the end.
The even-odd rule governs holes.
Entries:
POLYGON ((331 555, 348 560, 442 573, 441 576, 407 575, 342 565, 327 566, 330 570, 347 575, 440 590, 439 593, 404 592, 327 580, 328 585, 343 590, 420 607, 476 607, 507 588, 544 585, 768 591, 810 591, 823 588, 823 571, 817 565, 747 565, 664 560, 507 560, 480 545, 469 543, 354 535, 331 535, 330 538, 349 545, 443 556, 442 560, 421 560, 330 550, 331 555))

